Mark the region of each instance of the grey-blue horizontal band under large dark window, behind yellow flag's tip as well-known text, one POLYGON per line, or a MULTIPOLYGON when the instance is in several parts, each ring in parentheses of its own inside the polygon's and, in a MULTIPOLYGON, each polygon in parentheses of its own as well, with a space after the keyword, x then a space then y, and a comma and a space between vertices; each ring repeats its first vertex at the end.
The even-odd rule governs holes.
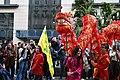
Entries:
MULTIPOLYGON (((16 37, 21 39, 39 39, 43 30, 17 30, 16 31, 16 37)), ((53 36, 58 36, 58 33, 56 30, 47 30, 47 35, 49 38, 53 36)))

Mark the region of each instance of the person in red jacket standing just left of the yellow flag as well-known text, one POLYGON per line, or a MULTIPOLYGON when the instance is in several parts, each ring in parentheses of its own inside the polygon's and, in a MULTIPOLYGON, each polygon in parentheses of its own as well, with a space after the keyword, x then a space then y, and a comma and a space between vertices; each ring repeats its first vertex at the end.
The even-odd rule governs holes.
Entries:
POLYGON ((42 80, 42 76, 44 75, 43 64, 44 64, 44 56, 42 55, 42 49, 40 46, 36 46, 35 56, 33 57, 33 66, 32 66, 32 71, 35 75, 34 80, 42 80))

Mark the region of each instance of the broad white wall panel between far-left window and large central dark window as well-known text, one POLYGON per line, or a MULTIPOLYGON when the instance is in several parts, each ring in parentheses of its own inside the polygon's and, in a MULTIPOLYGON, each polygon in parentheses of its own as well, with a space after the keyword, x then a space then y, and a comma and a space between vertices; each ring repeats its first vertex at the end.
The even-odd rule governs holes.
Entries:
POLYGON ((18 4, 19 7, 14 9, 14 28, 16 30, 28 29, 28 9, 29 0, 11 0, 10 4, 18 4))

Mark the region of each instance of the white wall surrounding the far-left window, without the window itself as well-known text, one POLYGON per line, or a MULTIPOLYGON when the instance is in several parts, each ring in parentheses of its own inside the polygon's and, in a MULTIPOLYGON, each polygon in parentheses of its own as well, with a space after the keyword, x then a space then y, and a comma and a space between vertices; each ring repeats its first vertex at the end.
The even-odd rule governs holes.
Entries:
MULTIPOLYGON (((4 0, 0 0, 4 4, 4 0)), ((0 9, 0 13, 14 13, 13 43, 21 41, 16 38, 16 30, 28 29, 29 0, 10 0, 10 4, 18 4, 18 8, 0 9)))

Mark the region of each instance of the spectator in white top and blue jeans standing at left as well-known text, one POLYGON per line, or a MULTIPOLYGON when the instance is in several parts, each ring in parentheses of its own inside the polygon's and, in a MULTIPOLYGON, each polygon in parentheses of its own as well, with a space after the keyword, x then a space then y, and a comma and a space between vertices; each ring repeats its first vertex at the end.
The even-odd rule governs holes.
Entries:
POLYGON ((28 54, 30 51, 27 49, 27 45, 22 43, 19 49, 19 69, 16 80, 27 80, 28 54))

